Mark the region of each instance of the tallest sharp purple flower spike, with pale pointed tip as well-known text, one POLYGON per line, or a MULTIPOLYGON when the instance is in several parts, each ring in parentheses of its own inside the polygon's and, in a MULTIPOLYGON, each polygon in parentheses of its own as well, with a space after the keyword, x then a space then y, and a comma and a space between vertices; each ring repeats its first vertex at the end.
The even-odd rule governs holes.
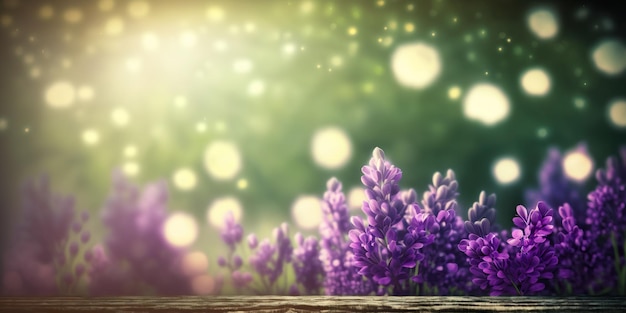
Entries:
POLYGON ((421 212, 415 192, 400 193, 400 169, 385 160, 380 148, 374 149, 369 165, 362 168, 361 181, 367 200, 363 213, 367 224, 355 216, 350 230, 350 247, 359 274, 387 288, 386 293, 407 295, 415 292, 413 283, 421 280, 416 273, 425 245, 432 243, 434 216, 421 212), (407 208, 414 210, 410 221, 404 218, 407 208))

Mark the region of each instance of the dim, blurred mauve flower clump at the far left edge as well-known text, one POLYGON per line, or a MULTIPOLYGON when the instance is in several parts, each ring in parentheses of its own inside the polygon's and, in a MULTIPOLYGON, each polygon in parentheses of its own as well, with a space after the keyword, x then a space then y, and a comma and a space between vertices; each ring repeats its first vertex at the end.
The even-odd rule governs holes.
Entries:
POLYGON ((22 190, 21 215, 4 254, 2 284, 7 295, 77 293, 85 263, 79 256, 91 233, 89 215, 75 217, 74 199, 52 193, 47 177, 28 181, 22 190))

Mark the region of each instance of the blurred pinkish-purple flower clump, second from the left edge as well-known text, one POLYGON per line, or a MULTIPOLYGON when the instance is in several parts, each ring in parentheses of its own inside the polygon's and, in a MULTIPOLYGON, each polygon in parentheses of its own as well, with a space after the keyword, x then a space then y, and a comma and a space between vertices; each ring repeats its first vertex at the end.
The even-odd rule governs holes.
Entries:
POLYGON ((182 271, 185 250, 172 246, 162 229, 167 213, 165 182, 141 192, 120 172, 102 212, 108 233, 93 251, 89 270, 92 295, 190 294, 182 271))

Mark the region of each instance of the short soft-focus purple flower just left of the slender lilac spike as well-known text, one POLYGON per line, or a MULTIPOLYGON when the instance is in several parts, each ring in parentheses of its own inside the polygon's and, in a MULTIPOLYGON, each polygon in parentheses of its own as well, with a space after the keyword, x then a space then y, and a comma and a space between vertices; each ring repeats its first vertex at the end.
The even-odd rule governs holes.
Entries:
POLYGON ((294 237, 297 243, 293 250, 292 264, 296 274, 296 282, 292 286, 291 294, 318 295, 324 280, 324 268, 319 258, 319 244, 317 238, 309 236, 304 239, 297 233, 294 237), (298 285, 302 287, 300 292, 298 285))

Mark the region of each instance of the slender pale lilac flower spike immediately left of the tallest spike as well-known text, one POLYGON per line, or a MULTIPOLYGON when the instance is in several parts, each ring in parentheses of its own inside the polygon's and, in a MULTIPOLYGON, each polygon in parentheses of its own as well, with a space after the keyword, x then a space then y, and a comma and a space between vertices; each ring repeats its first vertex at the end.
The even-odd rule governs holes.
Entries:
POLYGON ((363 279, 353 266, 348 231, 351 228, 346 198, 341 182, 331 178, 322 201, 323 220, 320 224, 320 261, 325 272, 324 290, 327 295, 367 295, 376 286, 363 279))

